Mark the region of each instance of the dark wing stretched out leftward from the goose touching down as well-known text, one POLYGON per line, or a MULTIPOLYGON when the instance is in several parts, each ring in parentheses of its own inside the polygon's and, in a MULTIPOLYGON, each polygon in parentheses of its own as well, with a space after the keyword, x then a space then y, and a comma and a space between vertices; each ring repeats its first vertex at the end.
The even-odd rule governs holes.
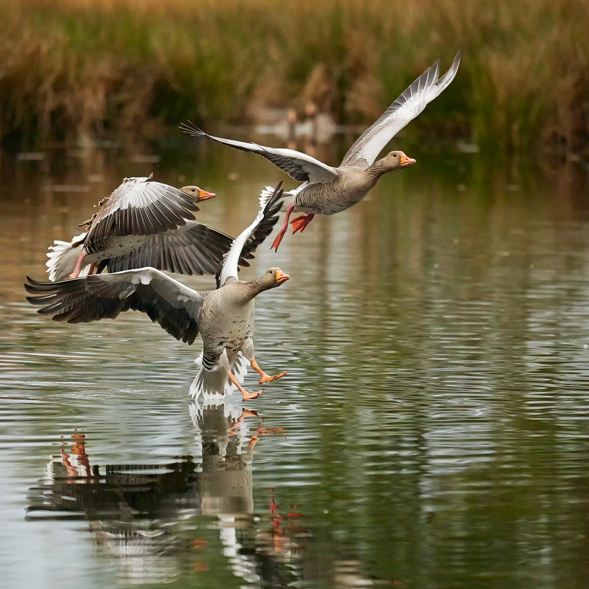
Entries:
POLYGON ((146 313, 177 340, 192 344, 206 292, 197 292, 154 268, 93 274, 61 282, 37 282, 27 276, 30 304, 53 321, 87 323, 114 319, 119 313, 146 313))

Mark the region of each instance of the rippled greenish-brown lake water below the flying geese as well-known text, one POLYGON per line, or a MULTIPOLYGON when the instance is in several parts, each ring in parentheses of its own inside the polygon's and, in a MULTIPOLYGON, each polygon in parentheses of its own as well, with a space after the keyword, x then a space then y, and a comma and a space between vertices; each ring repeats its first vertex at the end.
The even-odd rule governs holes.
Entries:
POLYGON ((200 344, 137 313, 51 322, 22 287, 124 176, 215 191, 199 220, 229 234, 283 179, 177 153, 0 159, 0 585, 585 589, 586 169, 407 149, 258 250, 244 277, 291 280, 257 299, 256 358, 288 374, 215 406, 188 397, 200 344))

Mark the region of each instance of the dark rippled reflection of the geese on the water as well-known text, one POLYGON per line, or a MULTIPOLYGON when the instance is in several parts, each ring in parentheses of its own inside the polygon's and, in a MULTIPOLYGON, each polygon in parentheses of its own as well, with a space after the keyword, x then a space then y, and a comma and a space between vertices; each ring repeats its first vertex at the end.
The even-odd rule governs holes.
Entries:
POLYGON ((93 464, 91 441, 73 434, 30 489, 27 518, 89 520, 100 555, 114 558, 125 584, 219 572, 223 578, 227 569, 247 587, 383 583, 364 579, 358 561, 338 559, 331 544, 313 538, 297 507, 281 509, 272 493, 267 510, 254 514, 256 444, 267 435, 285 437, 282 428, 265 428, 255 412, 222 399, 192 404, 188 412, 200 457, 167 464, 93 464))

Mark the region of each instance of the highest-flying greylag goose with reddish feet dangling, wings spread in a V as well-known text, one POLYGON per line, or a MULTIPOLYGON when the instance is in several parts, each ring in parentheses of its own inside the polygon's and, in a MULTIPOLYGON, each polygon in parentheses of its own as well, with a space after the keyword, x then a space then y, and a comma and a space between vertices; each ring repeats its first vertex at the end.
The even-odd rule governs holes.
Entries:
POLYGON ((356 139, 337 168, 327 166, 322 161, 299 151, 213 137, 191 123, 182 125, 181 128, 194 137, 205 137, 238 150, 257 153, 272 161, 272 164, 281 168, 291 178, 303 182, 287 193, 292 200, 286 208, 286 217, 279 234, 272 243, 272 247, 278 250, 288 229, 291 213, 305 213, 292 220, 294 234, 303 231, 315 215, 333 215, 360 202, 376 186, 383 174, 415 164, 415 160, 407 157, 402 151, 392 151, 378 161, 375 159, 407 123, 450 85, 458 71, 460 58, 461 52, 457 53, 450 69, 441 77, 439 60, 426 69, 389 106, 378 121, 356 139))

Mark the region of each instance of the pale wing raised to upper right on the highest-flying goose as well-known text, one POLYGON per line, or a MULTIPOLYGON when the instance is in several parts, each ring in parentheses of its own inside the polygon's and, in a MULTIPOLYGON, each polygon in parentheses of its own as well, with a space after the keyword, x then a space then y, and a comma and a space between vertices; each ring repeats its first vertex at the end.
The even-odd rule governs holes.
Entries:
POLYGON ((461 56, 462 52, 459 51, 450 69, 441 78, 439 60, 428 67, 387 108, 378 121, 356 139, 346 153, 342 166, 358 166, 364 169, 371 166, 387 143, 450 85, 458 71, 461 56))

